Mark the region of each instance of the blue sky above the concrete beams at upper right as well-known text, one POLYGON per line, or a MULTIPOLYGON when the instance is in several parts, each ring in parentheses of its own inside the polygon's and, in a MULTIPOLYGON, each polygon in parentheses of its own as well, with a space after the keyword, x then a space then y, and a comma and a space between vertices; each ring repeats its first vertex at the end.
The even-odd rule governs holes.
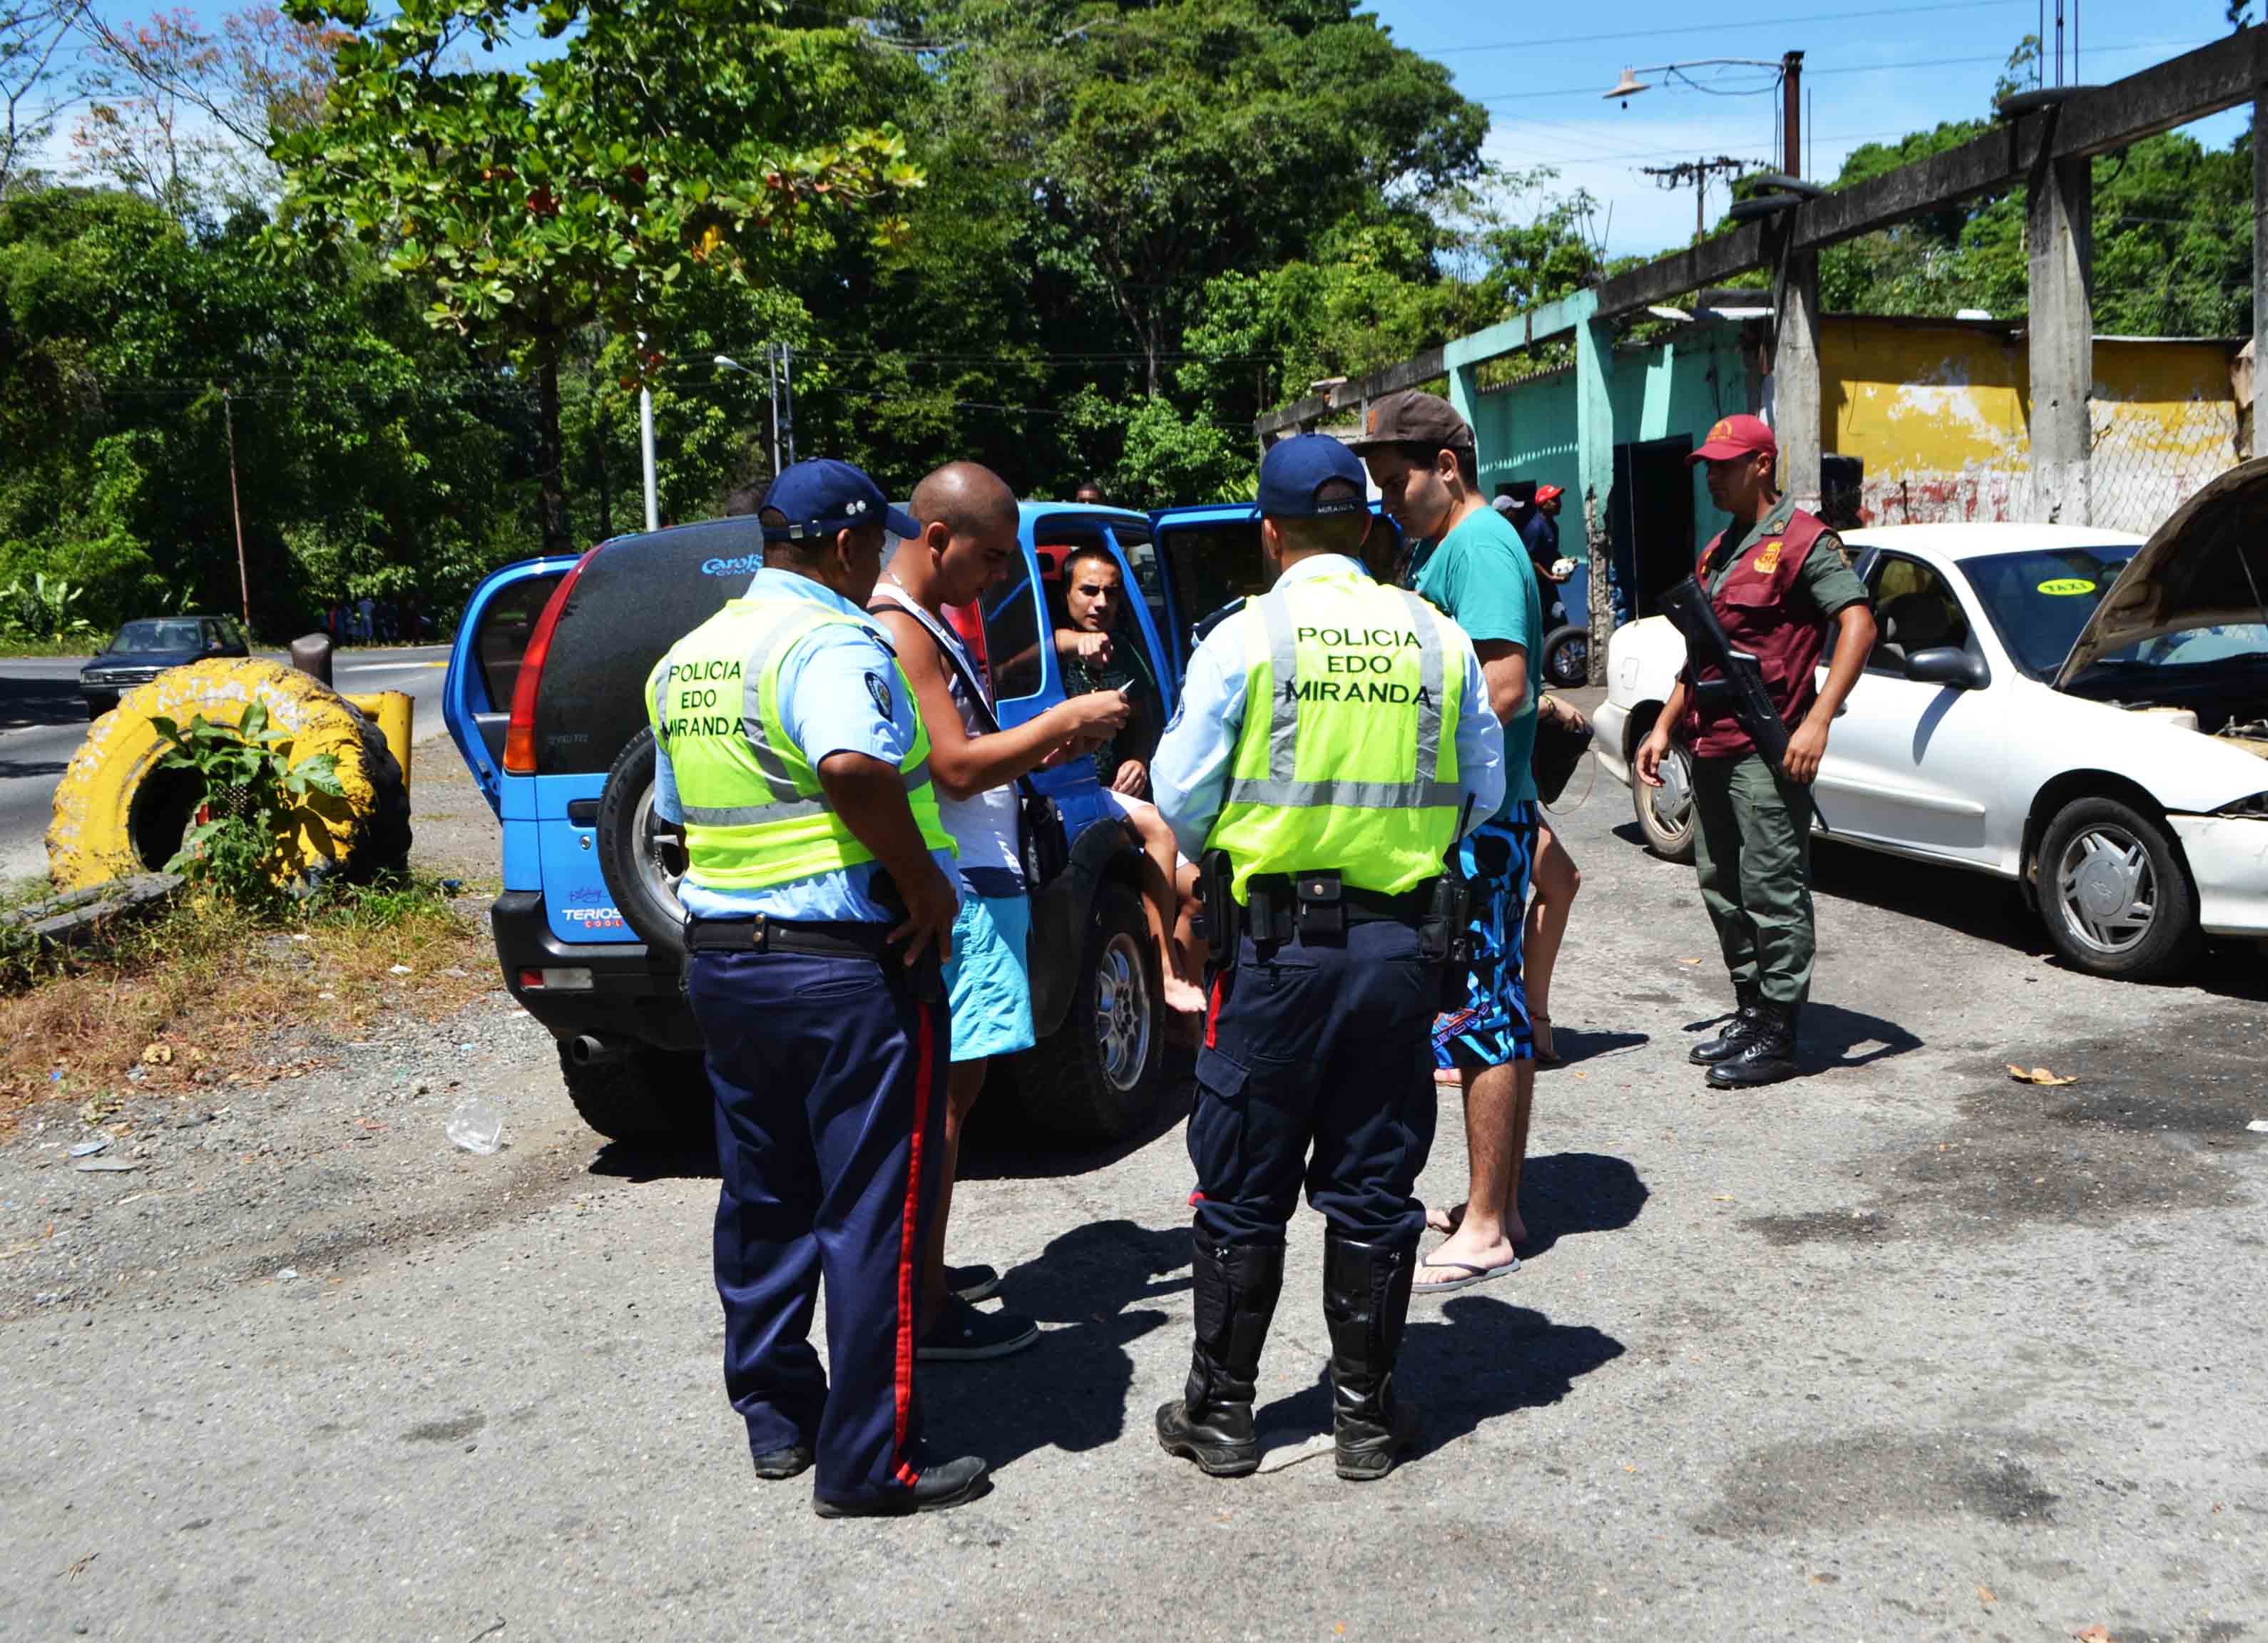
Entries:
MULTIPOLYGON (((1597 233, 1610 252, 1658 252, 1692 236, 1692 188, 1669 193, 1644 165, 1733 154, 1771 159, 1778 95, 1762 70, 1724 75, 1712 95, 1662 86, 1606 102, 1624 66, 1699 57, 1760 57, 1801 50, 1808 84, 1808 172, 1835 177, 1844 156, 1939 120, 1987 111, 1994 79, 2016 41, 2039 29, 2041 0, 1613 0, 1599 7, 1474 5, 1474 0, 1370 0, 1395 39, 1456 73, 1458 91, 1488 104, 1490 159, 1554 165, 1560 188, 1599 199, 1597 233), (1864 16, 1862 16, 1864 14, 1864 16), (1583 36, 1583 39, 1574 39, 1583 36), (1601 39, 1617 36, 1617 39, 1601 39), (1769 95, 1767 95, 1769 93, 1769 95)), ((2048 0, 2053 52, 2055 2, 2048 0)), ((2066 0, 2066 61, 2077 7, 2066 0)), ((2132 75, 2227 34, 2223 0, 2087 0, 2077 16, 2077 79, 2132 75)), ((2055 82, 2053 57, 2048 82, 2055 82)), ((2191 131, 2223 145, 2245 113, 2204 120, 2191 131)), ((1721 186, 1710 220, 1724 211, 1721 186)))

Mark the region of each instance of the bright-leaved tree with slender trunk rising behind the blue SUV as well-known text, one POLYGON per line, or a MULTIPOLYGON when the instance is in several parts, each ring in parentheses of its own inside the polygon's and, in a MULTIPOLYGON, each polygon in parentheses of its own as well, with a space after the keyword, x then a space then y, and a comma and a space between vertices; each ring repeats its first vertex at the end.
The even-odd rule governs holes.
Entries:
MULTIPOLYGON (((558 365, 592 322, 646 369, 710 283, 762 283, 848 211, 916 188, 889 127, 828 118, 832 32, 778 0, 290 0, 354 29, 322 125, 286 136, 295 238, 354 238, 431 295, 426 317, 538 388, 544 546, 572 544, 558 365), (535 18, 562 50, 458 68, 535 18), (680 297, 680 288, 687 292, 680 297)), ((896 220, 880 215, 875 231, 896 220)))

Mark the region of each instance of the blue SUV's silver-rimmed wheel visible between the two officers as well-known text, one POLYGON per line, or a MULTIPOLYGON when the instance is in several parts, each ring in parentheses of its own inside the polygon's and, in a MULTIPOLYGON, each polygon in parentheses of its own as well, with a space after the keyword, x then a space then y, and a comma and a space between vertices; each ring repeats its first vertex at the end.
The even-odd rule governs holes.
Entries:
POLYGON ((1080 977, 1064 1024, 1016 1056, 1025 1120, 1068 1140, 1139 1129, 1166 1086, 1163 986, 1141 895, 1105 879, 1086 913, 1080 977))

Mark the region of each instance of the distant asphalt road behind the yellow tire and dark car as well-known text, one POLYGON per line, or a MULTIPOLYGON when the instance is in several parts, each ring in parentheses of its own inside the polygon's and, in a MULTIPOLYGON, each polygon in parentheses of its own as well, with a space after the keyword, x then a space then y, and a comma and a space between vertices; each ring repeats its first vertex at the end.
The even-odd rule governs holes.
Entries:
MULTIPOLYGON (((281 653, 261 653, 290 662, 281 653)), ((48 820, 54 784, 86 739, 79 669, 86 657, 0 657, 0 884, 48 870, 48 820)), ((417 703, 417 741, 447 730, 440 684, 449 646, 340 650, 331 678, 342 691, 408 691, 417 703)))

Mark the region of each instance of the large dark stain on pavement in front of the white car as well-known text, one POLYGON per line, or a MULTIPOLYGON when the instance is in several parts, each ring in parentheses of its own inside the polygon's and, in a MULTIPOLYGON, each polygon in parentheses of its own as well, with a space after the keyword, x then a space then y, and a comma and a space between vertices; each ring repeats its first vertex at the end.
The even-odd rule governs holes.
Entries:
POLYGON ((2268 1024, 2200 1011, 2155 1027, 2148 1040, 2098 1038, 2032 1058, 2077 1083, 2039 1088, 1980 1072, 1960 1097, 1957 1126, 1867 1163, 1864 1174, 1885 1181, 1869 1203, 1765 1215, 1744 1226, 1776 1246, 1966 1240, 2028 1221, 2102 1226, 2250 1203, 2220 1156, 2268 1142, 2245 1129, 2268 1113, 2259 1095, 2268 1024), (2168 1042, 2180 1045, 2177 1065, 2168 1042))

